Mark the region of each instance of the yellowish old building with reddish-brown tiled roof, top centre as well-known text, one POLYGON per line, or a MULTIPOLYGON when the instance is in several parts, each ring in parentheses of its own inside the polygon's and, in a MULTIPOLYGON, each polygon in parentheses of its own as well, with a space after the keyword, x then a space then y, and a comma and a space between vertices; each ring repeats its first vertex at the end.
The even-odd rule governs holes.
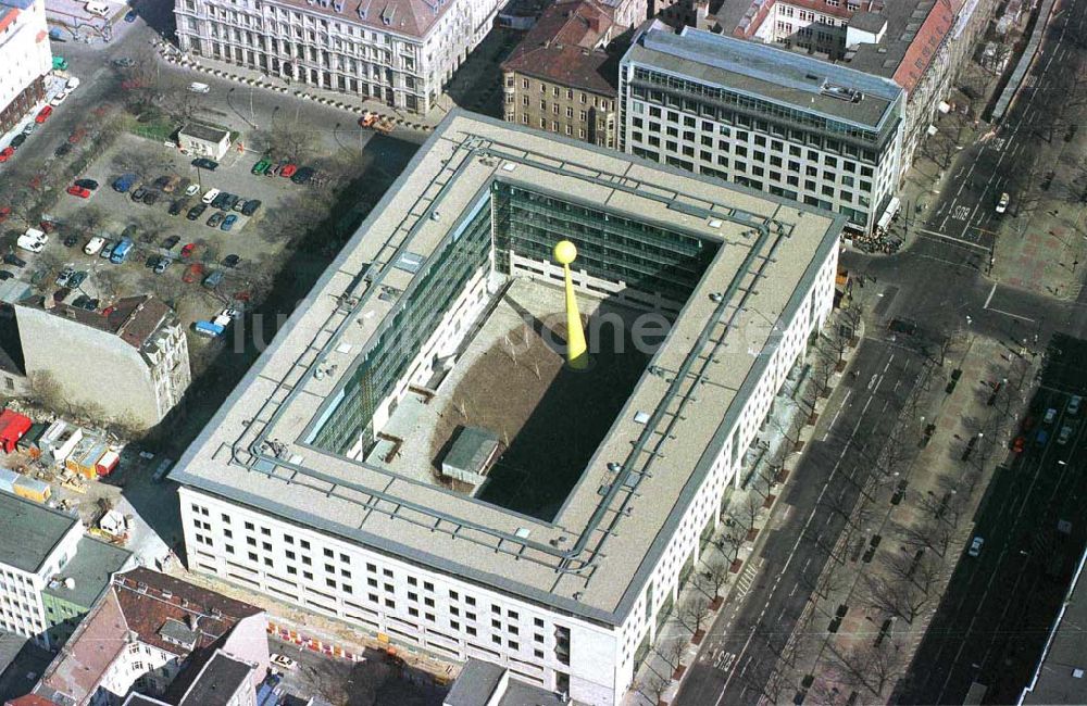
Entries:
POLYGON ((505 119, 614 148, 621 29, 598 0, 548 8, 502 64, 505 119))

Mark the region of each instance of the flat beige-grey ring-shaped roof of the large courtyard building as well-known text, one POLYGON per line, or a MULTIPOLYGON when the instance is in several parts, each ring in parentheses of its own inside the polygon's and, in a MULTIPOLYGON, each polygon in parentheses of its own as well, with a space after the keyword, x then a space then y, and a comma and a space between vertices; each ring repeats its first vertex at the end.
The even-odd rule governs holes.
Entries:
POLYGON ((730 433, 769 364, 761 353, 777 341, 767 322, 788 320, 799 308, 844 223, 794 201, 453 111, 171 478, 436 571, 617 623, 637 598, 632 587, 655 566, 709 472, 705 449, 730 433), (378 324, 397 311, 379 292, 404 291, 415 277, 392 263, 408 251, 429 257, 490 198, 496 180, 723 245, 552 522, 305 442, 378 324), (367 281, 375 270, 379 276, 367 281), (318 365, 323 374, 315 376, 318 365), (638 412, 647 423, 635 420, 638 412), (665 454, 667 472, 655 472, 665 454))

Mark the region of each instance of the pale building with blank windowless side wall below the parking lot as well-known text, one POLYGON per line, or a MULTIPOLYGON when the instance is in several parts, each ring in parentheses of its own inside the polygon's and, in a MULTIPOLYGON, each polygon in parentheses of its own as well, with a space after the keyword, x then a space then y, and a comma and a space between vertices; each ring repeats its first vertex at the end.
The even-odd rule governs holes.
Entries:
POLYGON ((107 312, 54 303, 51 297, 16 304, 27 378, 47 375, 74 404, 151 427, 191 381, 185 330, 174 310, 151 294, 125 297, 107 312))

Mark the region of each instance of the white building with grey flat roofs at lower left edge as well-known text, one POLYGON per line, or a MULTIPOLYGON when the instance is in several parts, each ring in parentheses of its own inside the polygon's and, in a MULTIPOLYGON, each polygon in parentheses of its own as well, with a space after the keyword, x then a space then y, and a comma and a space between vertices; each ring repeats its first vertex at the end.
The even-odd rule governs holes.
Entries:
POLYGON ((57 648, 132 563, 130 552, 85 537, 78 517, 0 491, 4 630, 57 648))

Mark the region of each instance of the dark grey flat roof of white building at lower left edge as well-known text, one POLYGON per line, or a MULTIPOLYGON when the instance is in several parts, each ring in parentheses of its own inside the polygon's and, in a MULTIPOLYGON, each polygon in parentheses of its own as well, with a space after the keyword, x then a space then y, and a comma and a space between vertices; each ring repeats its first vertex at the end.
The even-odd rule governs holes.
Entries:
POLYGON ((35 573, 78 518, 0 491, 0 563, 35 573))

